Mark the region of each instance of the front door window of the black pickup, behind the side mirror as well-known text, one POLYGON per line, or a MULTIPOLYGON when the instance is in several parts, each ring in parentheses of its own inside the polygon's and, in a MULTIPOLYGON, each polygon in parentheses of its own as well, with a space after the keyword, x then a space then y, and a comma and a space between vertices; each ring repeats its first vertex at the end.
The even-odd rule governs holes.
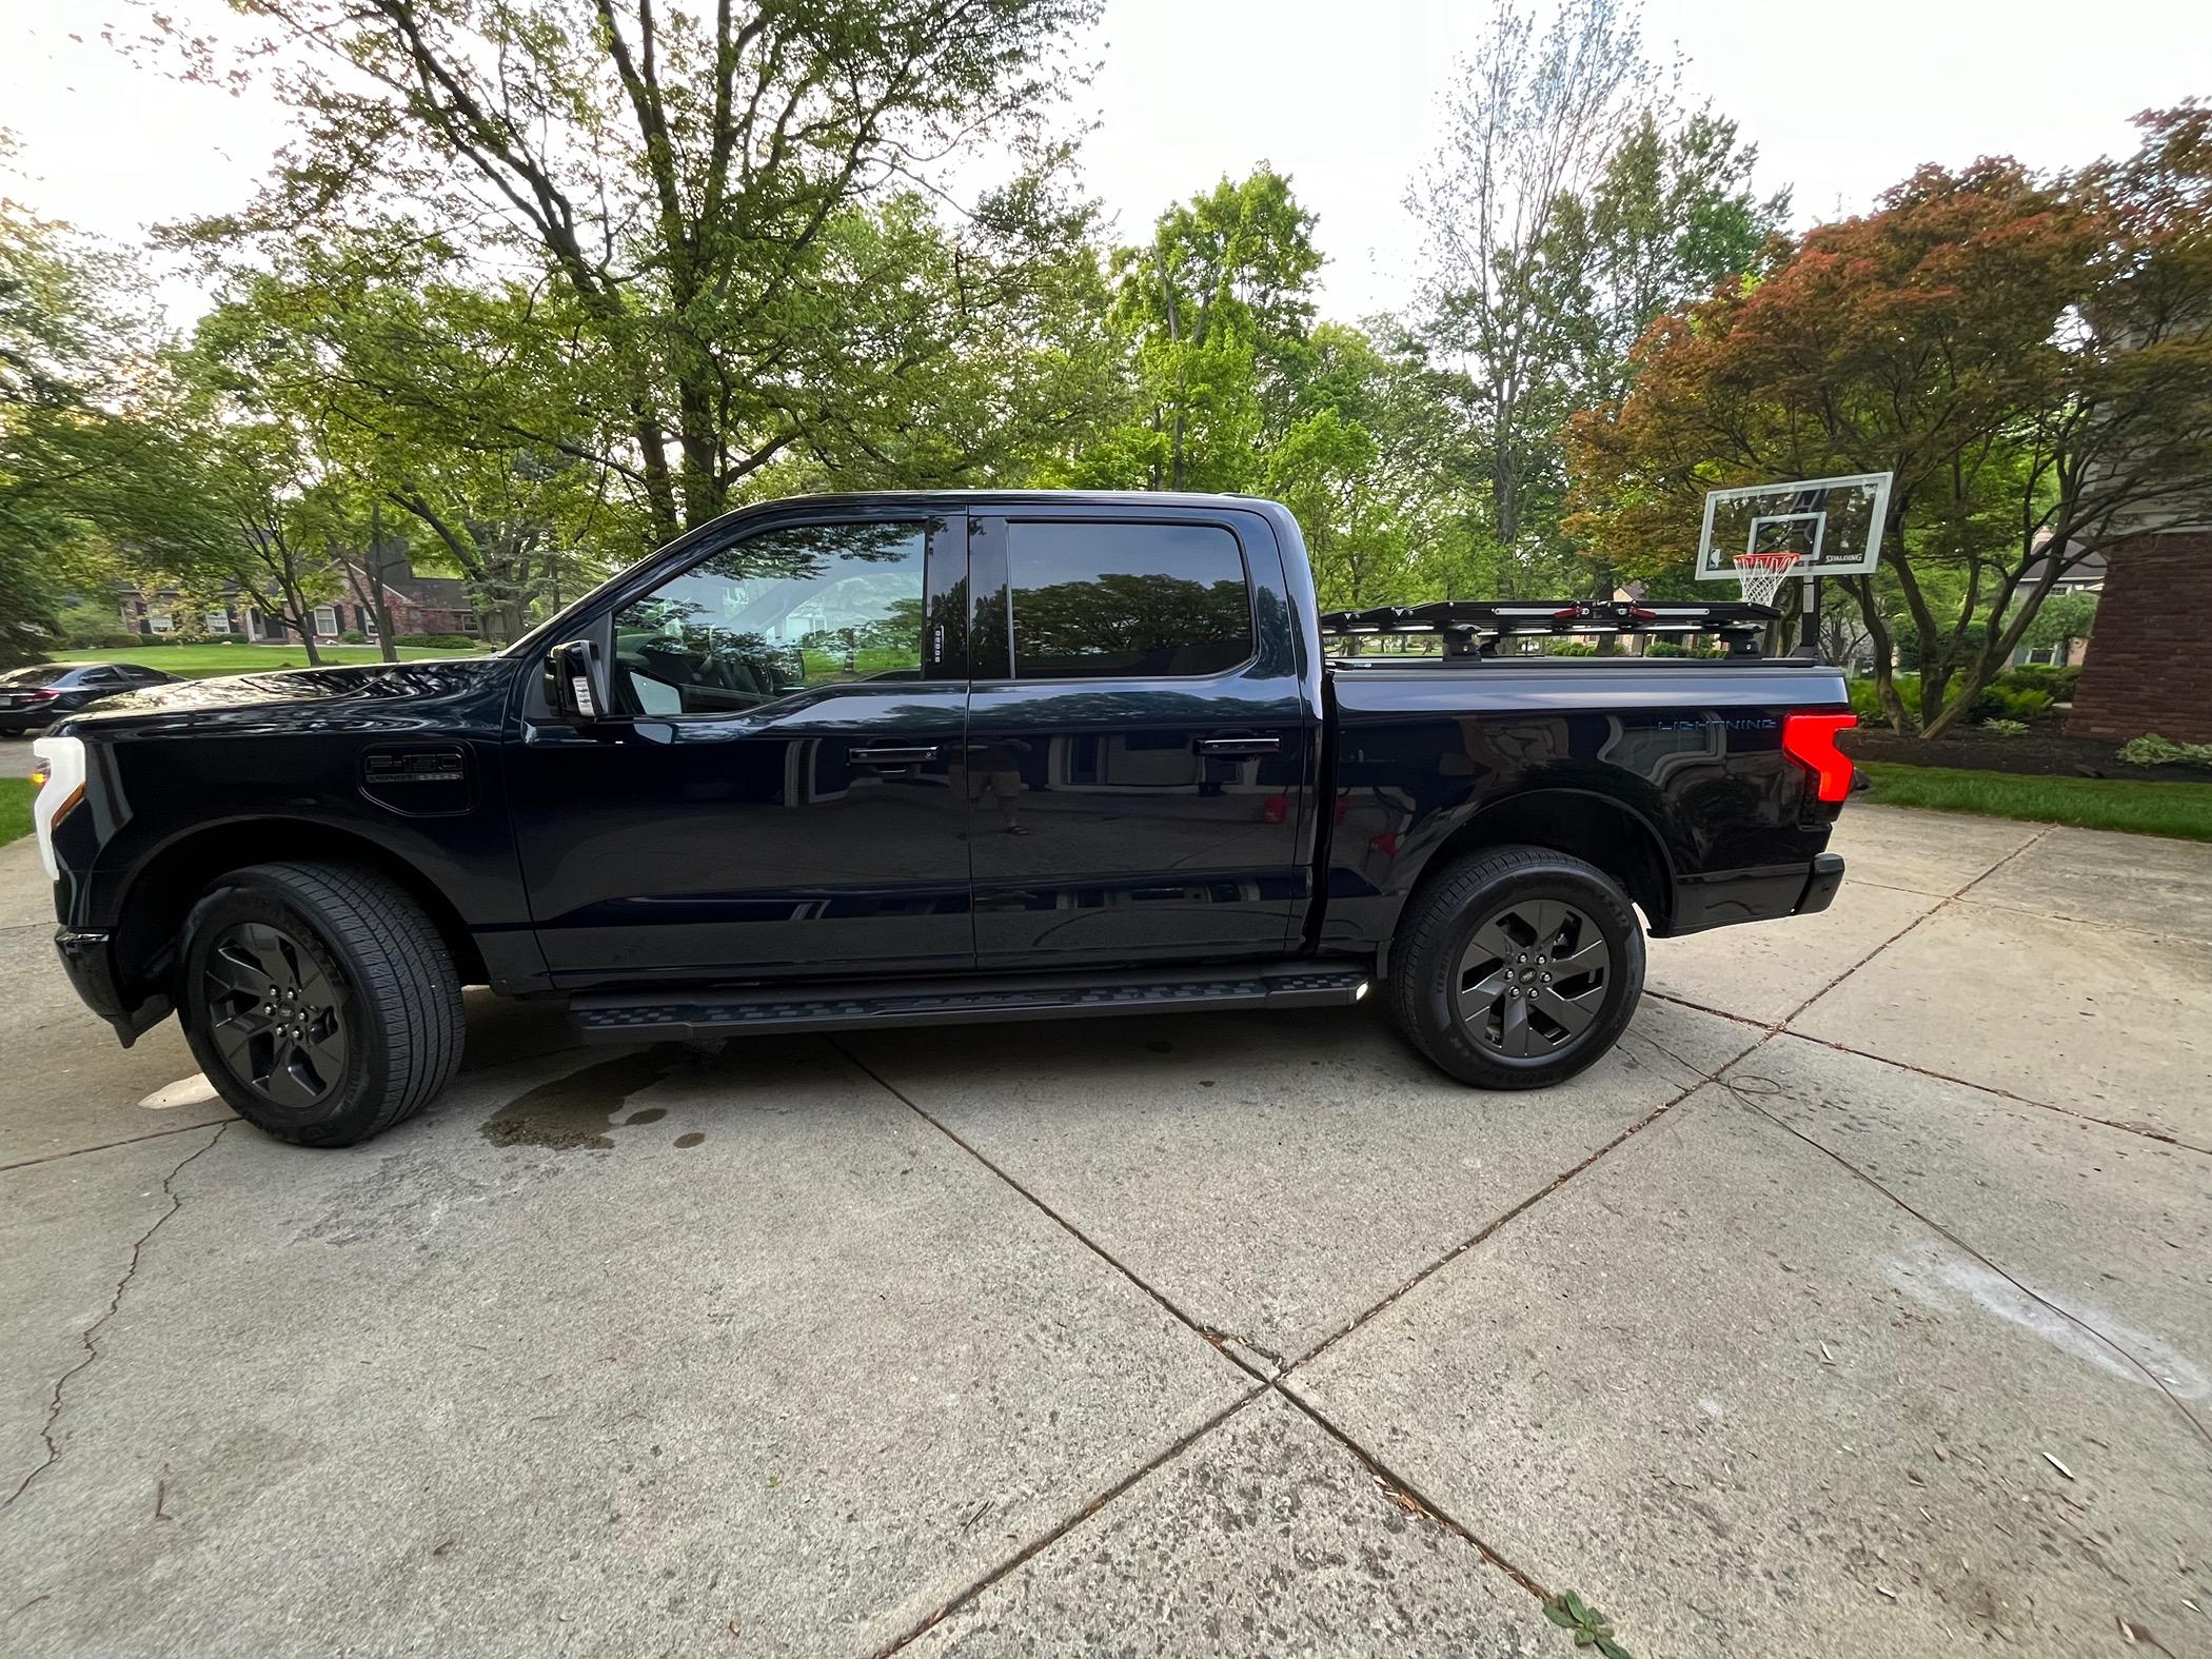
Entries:
POLYGON ((803 524, 714 553, 615 617, 633 714, 730 714, 845 679, 916 679, 925 524, 803 524))

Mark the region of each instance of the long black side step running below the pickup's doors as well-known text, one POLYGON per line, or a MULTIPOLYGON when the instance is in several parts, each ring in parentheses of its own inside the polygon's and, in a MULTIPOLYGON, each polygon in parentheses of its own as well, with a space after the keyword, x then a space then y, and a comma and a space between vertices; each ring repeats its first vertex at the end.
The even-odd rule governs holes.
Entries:
POLYGON ((1338 1009, 1367 995, 1365 967, 1279 962, 1197 973, 1031 973, 1024 978, 633 991, 577 995, 584 1042, 686 1040, 732 1031, 852 1031, 989 1020, 1079 1020, 1168 1009, 1338 1009))

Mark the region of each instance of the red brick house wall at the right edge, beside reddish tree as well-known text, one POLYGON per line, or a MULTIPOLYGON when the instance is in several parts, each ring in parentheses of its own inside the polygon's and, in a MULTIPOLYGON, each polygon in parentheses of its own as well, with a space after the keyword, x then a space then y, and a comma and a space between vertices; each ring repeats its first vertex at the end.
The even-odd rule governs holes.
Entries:
POLYGON ((2212 524, 2117 542, 2097 602, 2097 648, 2081 666, 2066 730, 2212 743, 2205 606, 2212 606, 2212 524))

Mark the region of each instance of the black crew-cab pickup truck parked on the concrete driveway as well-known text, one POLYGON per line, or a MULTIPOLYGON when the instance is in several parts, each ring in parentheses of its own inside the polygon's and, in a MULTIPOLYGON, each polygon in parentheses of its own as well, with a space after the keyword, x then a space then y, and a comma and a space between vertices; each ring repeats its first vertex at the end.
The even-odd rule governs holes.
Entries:
POLYGON ((1845 684, 1772 615, 1323 615, 1245 498, 785 500, 495 657, 115 697, 40 741, 35 825, 86 1004, 179 1011, 301 1144, 434 1099, 465 984, 599 1042, 1376 989, 1531 1088, 1619 1037, 1646 927, 1834 898, 1845 684), (1705 650, 1524 655, 1597 628, 1705 650))

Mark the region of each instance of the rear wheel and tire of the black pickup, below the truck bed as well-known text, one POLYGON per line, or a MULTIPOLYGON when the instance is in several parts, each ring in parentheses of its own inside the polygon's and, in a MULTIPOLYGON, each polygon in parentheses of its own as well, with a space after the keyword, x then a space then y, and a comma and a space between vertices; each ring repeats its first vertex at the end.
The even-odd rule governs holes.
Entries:
POLYGON ((1486 847, 1413 894, 1389 991, 1398 1029, 1460 1082, 1546 1088, 1628 1029, 1644 995, 1644 929, 1595 865, 1486 847))

